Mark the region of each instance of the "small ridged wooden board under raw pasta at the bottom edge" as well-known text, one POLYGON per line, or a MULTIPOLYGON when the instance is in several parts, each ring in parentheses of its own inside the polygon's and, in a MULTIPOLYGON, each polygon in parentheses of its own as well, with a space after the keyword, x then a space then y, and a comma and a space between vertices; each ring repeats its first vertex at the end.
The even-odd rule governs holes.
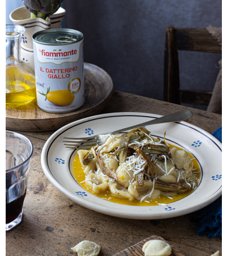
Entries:
MULTIPOLYGON (((141 242, 138 242, 135 245, 132 245, 131 247, 128 247, 123 251, 120 251, 120 253, 114 254, 113 256, 144 256, 145 254, 142 251, 142 246, 144 245, 145 242, 148 242, 149 240, 162 240, 166 242, 166 240, 163 239, 162 237, 158 237, 158 236, 148 237, 145 240, 142 240, 141 242)), ((170 246, 172 248, 172 253, 170 256, 184 256, 182 253, 180 253, 180 251, 176 250, 172 245, 170 246)))

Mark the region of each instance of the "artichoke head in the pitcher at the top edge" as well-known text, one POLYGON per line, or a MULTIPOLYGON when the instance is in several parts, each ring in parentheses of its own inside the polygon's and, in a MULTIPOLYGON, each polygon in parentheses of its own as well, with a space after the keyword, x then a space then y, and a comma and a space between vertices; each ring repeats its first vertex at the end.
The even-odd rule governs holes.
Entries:
POLYGON ((22 0, 26 8, 31 12, 31 18, 46 19, 56 13, 64 0, 22 0))

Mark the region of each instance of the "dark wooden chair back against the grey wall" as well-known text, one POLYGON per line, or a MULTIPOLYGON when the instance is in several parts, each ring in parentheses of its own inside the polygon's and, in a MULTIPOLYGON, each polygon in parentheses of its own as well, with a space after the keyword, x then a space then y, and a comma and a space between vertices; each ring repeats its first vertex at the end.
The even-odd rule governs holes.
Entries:
POLYGON ((212 92, 180 89, 178 51, 221 53, 221 45, 205 28, 166 28, 164 101, 208 105, 212 92))

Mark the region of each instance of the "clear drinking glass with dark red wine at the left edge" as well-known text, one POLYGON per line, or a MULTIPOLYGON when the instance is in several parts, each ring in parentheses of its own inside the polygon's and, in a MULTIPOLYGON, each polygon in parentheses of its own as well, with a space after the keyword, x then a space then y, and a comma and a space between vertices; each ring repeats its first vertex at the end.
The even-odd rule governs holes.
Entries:
POLYGON ((28 138, 6 131, 6 231, 22 220, 32 152, 28 138))

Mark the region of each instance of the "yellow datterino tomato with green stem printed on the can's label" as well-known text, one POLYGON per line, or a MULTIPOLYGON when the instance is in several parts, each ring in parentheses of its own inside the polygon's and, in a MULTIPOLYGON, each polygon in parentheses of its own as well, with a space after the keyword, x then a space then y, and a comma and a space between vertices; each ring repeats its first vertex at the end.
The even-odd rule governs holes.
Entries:
POLYGON ((74 101, 74 94, 70 93, 68 90, 52 90, 49 91, 50 87, 47 88, 47 93, 41 93, 45 96, 45 101, 48 100, 49 102, 58 105, 58 106, 68 106, 74 101))

